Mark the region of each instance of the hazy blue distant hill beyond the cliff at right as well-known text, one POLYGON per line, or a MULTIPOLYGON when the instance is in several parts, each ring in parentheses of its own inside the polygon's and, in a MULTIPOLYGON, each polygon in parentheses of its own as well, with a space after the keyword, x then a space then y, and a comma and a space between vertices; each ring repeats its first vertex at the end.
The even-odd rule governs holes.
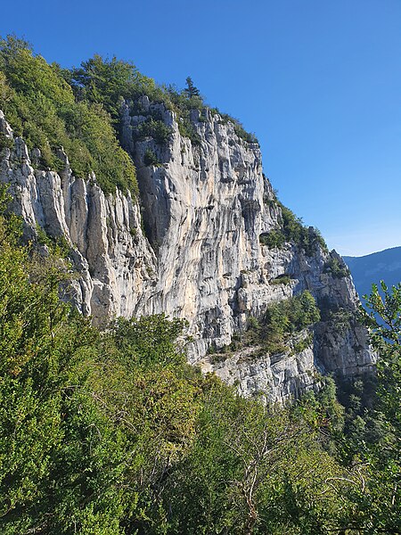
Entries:
POLYGON ((342 257, 348 264, 360 296, 370 293, 372 283, 388 286, 401 282, 401 247, 373 252, 364 257, 342 257))

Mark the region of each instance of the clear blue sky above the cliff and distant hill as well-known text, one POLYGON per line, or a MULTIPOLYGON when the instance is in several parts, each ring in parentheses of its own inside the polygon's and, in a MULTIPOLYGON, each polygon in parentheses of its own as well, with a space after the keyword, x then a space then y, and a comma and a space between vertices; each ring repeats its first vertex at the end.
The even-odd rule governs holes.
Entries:
POLYGON ((401 0, 19 0, 0 35, 63 66, 94 53, 190 75, 262 146, 279 197, 329 247, 401 245, 401 0))

